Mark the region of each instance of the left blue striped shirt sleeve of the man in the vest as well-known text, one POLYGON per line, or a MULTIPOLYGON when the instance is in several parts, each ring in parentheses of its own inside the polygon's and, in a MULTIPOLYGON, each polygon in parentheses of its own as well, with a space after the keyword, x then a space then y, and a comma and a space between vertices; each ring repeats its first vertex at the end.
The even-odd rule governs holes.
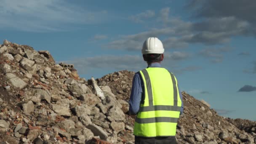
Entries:
POLYGON ((139 106, 141 103, 142 87, 141 87, 141 76, 137 72, 133 77, 133 83, 131 88, 131 96, 129 100, 129 114, 136 115, 139 112, 139 106))

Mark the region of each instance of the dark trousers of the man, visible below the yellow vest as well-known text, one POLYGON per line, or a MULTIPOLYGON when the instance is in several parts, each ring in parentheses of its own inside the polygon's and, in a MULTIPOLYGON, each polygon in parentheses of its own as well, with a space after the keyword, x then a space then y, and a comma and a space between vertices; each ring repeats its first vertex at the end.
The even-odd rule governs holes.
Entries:
POLYGON ((145 138, 135 136, 135 144, 177 144, 175 136, 145 138))

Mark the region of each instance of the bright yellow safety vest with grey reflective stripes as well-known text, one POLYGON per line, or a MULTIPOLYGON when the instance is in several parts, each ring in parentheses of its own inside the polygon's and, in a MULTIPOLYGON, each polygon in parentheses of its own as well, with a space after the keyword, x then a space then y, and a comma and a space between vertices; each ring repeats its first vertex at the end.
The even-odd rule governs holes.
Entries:
POLYGON ((165 68, 149 67, 140 71, 144 99, 135 119, 135 136, 175 136, 181 110, 176 77, 165 68))

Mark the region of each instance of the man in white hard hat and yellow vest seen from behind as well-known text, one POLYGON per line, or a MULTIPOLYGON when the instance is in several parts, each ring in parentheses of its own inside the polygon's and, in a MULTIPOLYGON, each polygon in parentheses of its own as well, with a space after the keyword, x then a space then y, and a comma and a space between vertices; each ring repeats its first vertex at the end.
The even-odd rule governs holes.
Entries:
POLYGON ((148 67, 134 75, 129 100, 129 113, 137 115, 135 144, 176 144, 176 125, 183 112, 178 82, 160 65, 164 48, 157 37, 147 38, 141 52, 148 67))

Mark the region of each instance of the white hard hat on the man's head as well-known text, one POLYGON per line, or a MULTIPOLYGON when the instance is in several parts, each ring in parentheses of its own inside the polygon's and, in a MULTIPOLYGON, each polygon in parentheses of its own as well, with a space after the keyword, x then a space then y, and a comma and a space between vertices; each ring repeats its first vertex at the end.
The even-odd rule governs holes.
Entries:
POLYGON ((157 37, 149 37, 143 43, 141 53, 163 53, 164 51, 165 49, 163 48, 163 43, 157 37))

